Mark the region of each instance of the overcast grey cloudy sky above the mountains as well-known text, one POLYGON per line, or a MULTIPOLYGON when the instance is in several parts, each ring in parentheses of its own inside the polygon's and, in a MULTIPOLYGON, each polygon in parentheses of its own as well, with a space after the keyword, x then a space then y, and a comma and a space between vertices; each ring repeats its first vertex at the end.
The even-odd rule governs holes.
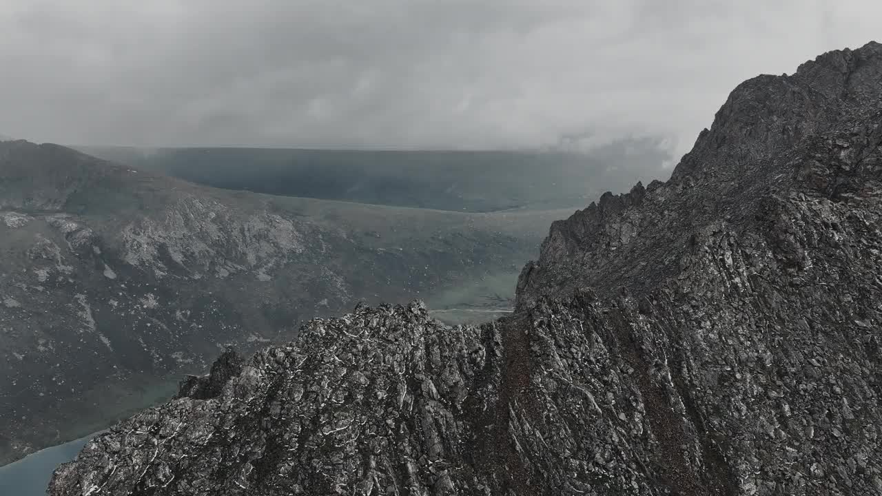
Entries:
MULTIPOLYGON (((691 147, 878 0, 0 0, 0 133, 66 144, 691 147)), ((882 40, 880 40, 882 41, 882 40)))

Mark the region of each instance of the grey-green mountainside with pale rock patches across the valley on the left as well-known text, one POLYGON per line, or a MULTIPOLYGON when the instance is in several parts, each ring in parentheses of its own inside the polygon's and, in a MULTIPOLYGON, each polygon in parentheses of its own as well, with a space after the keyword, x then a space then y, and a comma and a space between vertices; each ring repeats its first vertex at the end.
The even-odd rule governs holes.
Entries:
POLYGON ((157 401, 228 344, 287 341, 360 300, 513 286, 559 214, 229 192, 4 142, 0 462, 157 401))

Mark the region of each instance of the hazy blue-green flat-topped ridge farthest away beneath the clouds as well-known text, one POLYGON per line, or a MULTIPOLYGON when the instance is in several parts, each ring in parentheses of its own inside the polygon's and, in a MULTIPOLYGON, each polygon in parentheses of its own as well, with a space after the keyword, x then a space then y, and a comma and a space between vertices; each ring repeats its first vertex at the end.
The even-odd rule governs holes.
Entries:
POLYGON ((584 207, 602 192, 667 177, 657 139, 623 139, 590 154, 260 148, 78 147, 197 184, 275 195, 457 212, 584 207))

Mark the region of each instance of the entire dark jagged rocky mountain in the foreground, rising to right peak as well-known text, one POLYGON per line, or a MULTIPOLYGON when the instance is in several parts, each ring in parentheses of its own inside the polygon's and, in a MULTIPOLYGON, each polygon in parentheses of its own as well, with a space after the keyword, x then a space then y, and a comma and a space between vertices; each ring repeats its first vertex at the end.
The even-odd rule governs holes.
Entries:
POLYGON ((555 222, 511 317, 313 320, 49 493, 882 494, 880 110, 878 43, 751 79, 668 183, 555 222))

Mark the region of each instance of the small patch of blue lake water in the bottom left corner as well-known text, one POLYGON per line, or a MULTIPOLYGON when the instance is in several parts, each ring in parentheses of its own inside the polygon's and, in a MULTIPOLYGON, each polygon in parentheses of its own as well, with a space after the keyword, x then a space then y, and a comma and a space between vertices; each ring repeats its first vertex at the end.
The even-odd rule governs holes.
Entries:
MULTIPOLYGON (((97 434, 97 432, 96 432, 97 434)), ((73 460, 95 434, 63 445, 47 447, 18 462, 0 467, 0 494, 3 496, 45 496, 52 471, 73 460)))

